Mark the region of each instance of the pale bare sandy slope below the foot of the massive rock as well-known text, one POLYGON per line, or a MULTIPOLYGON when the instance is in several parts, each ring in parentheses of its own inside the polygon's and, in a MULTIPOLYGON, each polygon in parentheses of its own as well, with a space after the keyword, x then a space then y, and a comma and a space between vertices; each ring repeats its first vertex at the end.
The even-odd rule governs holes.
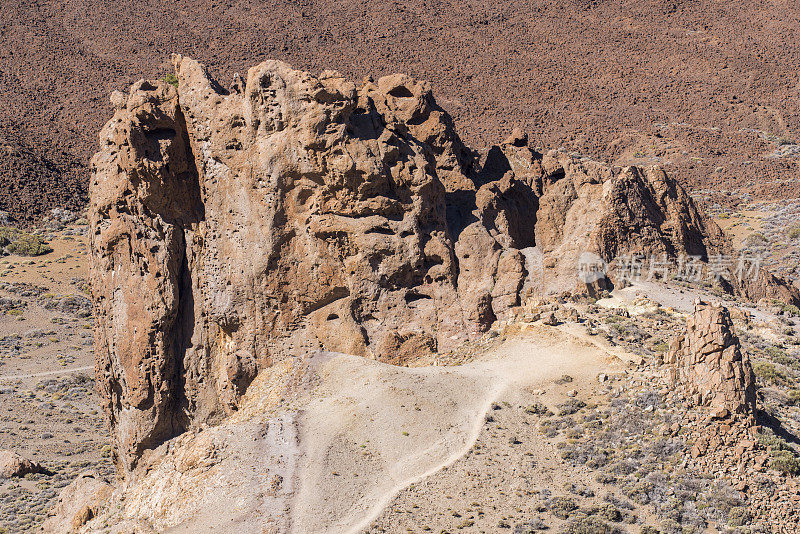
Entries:
MULTIPOLYGON (((361 532, 400 492, 469 455, 487 414, 497 413, 493 403, 555 406, 568 390, 586 397, 599 373, 624 372, 624 359, 581 326, 531 324, 461 366, 394 367, 330 353, 300 371, 278 365, 230 421, 160 447, 112 503, 118 511, 95 523, 139 517, 174 533, 361 532), (554 385, 565 374, 573 380, 554 385)), ((544 449, 543 436, 526 440, 529 450, 544 449)))

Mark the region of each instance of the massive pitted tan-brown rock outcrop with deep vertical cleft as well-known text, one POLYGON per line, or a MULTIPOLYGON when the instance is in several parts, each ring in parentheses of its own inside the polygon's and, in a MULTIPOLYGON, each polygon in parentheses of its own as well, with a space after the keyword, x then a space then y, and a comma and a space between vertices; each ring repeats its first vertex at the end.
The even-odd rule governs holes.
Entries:
POLYGON ((402 363, 574 290, 583 253, 727 246, 658 168, 543 155, 519 132, 480 158, 406 76, 267 61, 228 90, 173 62, 177 87, 114 95, 92 160, 97 378, 123 473, 236 411, 276 361, 402 363))

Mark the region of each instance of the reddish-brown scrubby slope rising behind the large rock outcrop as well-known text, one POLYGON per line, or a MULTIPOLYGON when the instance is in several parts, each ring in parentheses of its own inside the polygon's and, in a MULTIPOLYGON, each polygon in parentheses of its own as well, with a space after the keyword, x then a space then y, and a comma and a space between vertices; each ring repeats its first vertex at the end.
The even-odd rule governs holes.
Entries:
POLYGON ((84 205, 108 94, 265 58, 430 80, 465 141, 664 165, 713 202, 800 196, 800 2, 4 0, 0 209, 84 205), (796 147, 796 150, 795 150, 796 147), (775 157, 775 156, 779 157, 775 157), (707 196, 707 193, 711 196, 707 196))

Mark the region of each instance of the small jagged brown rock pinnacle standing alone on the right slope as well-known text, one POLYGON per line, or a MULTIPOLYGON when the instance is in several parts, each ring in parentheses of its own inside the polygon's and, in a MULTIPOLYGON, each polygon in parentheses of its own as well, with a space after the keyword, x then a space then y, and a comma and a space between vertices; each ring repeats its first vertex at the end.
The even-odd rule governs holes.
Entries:
POLYGON ((671 384, 696 405, 755 412, 755 375, 726 307, 696 302, 686 333, 672 341, 666 363, 671 384))

